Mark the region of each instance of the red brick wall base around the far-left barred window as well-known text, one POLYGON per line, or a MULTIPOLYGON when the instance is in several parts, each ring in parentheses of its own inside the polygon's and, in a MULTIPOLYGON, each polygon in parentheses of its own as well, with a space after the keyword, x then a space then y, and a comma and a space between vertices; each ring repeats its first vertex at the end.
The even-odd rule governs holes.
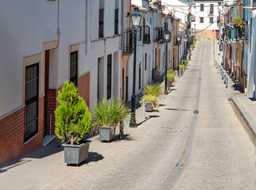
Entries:
POLYGON ((24 144, 25 108, 0 120, 0 164, 43 146, 44 97, 39 99, 38 134, 24 144))

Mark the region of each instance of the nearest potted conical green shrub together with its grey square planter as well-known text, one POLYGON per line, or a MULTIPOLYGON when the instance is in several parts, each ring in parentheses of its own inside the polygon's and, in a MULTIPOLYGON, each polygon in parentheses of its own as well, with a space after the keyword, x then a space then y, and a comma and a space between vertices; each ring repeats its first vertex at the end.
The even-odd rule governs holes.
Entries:
POLYGON ((55 135, 62 142, 66 141, 63 144, 65 163, 78 165, 88 158, 90 141, 82 141, 82 138, 90 132, 91 114, 72 82, 65 82, 57 101, 55 135))

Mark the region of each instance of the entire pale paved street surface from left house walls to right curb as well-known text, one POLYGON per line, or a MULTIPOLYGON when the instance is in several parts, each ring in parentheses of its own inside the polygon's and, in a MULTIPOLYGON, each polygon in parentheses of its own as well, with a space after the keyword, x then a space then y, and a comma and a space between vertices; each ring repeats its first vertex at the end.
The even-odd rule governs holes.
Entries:
POLYGON ((159 112, 127 139, 90 144, 79 167, 55 142, 0 166, 0 189, 256 189, 256 154, 213 63, 212 40, 197 41, 188 70, 159 112))

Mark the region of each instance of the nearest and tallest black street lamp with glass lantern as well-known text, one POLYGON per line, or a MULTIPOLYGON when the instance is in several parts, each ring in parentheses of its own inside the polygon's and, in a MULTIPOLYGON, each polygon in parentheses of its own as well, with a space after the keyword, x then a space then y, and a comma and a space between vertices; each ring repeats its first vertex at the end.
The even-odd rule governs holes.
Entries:
POLYGON ((132 15, 132 28, 134 29, 134 55, 133 55, 133 86, 132 86, 132 113, 130 120, 130 127, 137 127, 136 124, 136 46, 137 46, 137 29, 140 25, 141 13, 133 12, 132 15))

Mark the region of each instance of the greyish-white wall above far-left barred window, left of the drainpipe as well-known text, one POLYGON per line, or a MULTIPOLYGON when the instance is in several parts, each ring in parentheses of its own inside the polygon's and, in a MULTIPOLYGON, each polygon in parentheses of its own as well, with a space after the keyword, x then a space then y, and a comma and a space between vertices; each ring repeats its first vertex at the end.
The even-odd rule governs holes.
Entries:
POLYGON ((43 43, 57 40, 58 6, 46 1, 5 1, 0 17, 1 118, 22 106, 23 58, 43 55, 43 43))

